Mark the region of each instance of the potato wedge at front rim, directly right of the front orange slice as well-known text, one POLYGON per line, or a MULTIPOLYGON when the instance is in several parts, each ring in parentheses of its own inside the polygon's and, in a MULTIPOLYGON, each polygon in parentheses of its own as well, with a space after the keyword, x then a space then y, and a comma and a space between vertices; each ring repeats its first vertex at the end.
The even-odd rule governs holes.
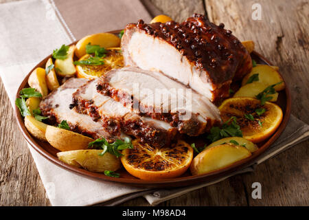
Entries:
POLYGON ((199 153, 190 165, 192 175, 209 173, 225 168, 241 159, 251 156, 251 152, 239 145, 221 144, 199 153))

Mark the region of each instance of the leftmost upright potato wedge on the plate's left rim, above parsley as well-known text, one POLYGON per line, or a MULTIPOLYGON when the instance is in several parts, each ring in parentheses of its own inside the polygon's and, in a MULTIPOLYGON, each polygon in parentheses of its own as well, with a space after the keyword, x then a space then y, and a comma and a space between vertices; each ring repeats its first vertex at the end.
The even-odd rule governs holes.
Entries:
POLYGON ((46 84, 46 74, 45 69, 38 67, 34 69, 34 71, 30 74, 28 78, 28 84, 30 87, 36 89, 38 92, 40 92, 43 96, 47 96, 48 89, 46 84))

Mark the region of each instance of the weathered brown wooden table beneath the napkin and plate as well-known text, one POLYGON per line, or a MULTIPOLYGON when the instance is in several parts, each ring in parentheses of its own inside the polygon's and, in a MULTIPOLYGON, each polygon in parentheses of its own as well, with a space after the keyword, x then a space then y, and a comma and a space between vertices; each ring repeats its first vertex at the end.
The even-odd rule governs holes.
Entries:
MULTIPOLYGON (((14 0, 0 0, 0 3, 14 0)), ((293 97, 292 113, 309 123, 309 3, 306 0, 151 0, 176 21, 193 12, 225 23, 240 40, 253 40, 255 50, 280 67, 293 97), (253 20, 260 3, 262 20, 253 20)), ((1 7, 1 5, 0 5, 1 7)), ((27 144, 15 122, 0 83, 0 206, 49 206, 27 144)), ((161 203, 161 206, 308 206, 309 141, 297 144, 260 164, 254 173, 231 177, 161 203), (252 199, 251 184, 262 184, 262 199, 252 199)), ((122 206, 148 206, 144 198, 122 206)))

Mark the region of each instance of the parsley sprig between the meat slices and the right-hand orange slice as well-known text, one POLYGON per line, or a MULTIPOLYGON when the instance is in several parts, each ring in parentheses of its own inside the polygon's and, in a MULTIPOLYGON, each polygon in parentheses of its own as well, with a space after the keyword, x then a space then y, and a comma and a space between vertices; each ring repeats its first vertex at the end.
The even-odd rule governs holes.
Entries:
POLYGON ((207 135, 207 139, 210 140, 211 143, 224 137, 242 137, 242 130, 240 130, 240 126, 237 124, 235 116, 222 124, 221 128, 213 126, 210 129, 210 133, 207 135))

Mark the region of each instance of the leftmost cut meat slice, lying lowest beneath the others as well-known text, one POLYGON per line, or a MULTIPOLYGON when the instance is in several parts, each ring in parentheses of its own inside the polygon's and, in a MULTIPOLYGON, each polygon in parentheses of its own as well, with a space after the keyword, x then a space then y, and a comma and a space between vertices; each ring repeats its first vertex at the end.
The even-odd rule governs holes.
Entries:
POLYGON ((72 131, 82 133, 93 139, 104 137, 109 142, 113 142, 116 139, 126 137, 122 133, 117 135, 107 133, 101 122, 94 122, 89 115, 77 113, 69 108, 69 104, 72 102, 72 94, 84 83, 87 83, 87 79, 70 78, 58 89, 52 91, 41 101, 42 114, 49 116, 49 120, 54 124, 67 120, 72 131))

